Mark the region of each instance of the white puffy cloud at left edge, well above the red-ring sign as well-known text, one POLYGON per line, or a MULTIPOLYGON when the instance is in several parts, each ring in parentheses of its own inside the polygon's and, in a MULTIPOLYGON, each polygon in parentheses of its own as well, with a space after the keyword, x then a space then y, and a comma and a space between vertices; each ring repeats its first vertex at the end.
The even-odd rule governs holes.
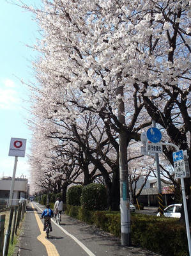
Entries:
POLYGON ((5 79, 0 84, 0 109, 13 109, 20 103, 19 93, 15 88, 15 83, 10 79, 5 79))

